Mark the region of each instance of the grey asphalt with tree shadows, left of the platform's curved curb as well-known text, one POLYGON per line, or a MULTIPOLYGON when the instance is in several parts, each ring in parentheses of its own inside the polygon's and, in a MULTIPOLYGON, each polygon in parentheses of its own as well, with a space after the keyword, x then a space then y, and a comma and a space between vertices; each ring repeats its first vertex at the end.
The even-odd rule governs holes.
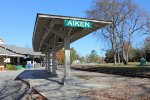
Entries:
POLYGON ((0 72, 0 100, 21 100, 27 92, 27 86, 15 80, 22 71, 0 72))

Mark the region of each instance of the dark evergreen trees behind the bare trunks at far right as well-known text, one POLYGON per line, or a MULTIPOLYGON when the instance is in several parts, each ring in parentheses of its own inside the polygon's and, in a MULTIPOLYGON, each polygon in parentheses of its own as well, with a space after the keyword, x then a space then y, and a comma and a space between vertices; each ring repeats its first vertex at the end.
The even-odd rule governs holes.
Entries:
MULTIPOLYGON (((125 49, 126 47, 127 46, 125 46, 125 49)), ((122 51, 120 51, 119 53, 120 53, 119 55, 121 55, 122 51)), ((140 62, 141 58, 145 58, 149 62, 150 61, 149 55, 150 55, 150 37, 147 37, 144 40, 143 45, 140 46, 139 48, 130 47, 128 61, 140 62)), ((118 61, 118 58, 117 58, 117 61, 118 61)), ((123 59, 120 59, 120 61, 123 62, 123 59)), ((105 54, 105 62, 107 63, 114 62, 113 52, 111 50, 107 50, 105 54)))

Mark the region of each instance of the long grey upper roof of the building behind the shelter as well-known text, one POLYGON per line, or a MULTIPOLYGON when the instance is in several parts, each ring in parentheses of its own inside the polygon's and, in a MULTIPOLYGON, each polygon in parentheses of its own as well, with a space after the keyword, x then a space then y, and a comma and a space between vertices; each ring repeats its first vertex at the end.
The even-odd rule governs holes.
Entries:
POLYGON ((44 56, 41 54, 41 52, 34 52, 30 48, 24 48, 24 47, 18 47, 15 45, 6 45, 6 44, 0 44, 0 47, 8 49, 11 52, 22 54, 22 55, 35 55, 35 56, 44 56))

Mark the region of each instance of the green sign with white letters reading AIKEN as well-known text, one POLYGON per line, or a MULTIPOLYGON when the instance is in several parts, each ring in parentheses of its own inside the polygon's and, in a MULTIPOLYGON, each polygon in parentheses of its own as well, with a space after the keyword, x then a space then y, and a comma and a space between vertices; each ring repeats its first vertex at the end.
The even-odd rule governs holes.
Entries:
POLYGON ((64 25, 69 27, 92 28, 92 22, 81 20, 64 20, 64 25))

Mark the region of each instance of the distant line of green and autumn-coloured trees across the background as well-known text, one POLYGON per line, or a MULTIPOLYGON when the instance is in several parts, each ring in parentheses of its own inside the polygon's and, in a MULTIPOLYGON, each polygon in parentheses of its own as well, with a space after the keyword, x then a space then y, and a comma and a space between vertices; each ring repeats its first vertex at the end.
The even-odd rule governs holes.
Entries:
MULTIPOLYGON (((124 44, 125 53, 127 52, 128 44, 124 44)), ((118 53, 118 52, 117 52, 118 53)), ((148 62, 150 62, 150 37, 147 37, 144 42, 141 44, 140 47, 134 48, 130 47, 128 51, 128 61, 129 62, 140 62, 141 58, 145 58, 148 62)), ((118 55, 118 54, 117 54, 118 55)), ((119 51, 120 58, 122 57, 122 51, 119 51)), ((92 50, 90 54, 86 56, 80 56, 77 51, 72 47, 70 49, 70 61, 71 64, 75 63, 113 63, 113 51, 107 50, 105 53, 105 58, 101 57, 97 54, 95 50, 92 50)), ((56 54, 57 60, 59 64, 64 64, 64 50, 60 49, 56 54)), ((118 62, 118 58, 116 58, 116 61, 118 62)), ((123 62, 123 59, 120 59, 120 63, 123 62)))

